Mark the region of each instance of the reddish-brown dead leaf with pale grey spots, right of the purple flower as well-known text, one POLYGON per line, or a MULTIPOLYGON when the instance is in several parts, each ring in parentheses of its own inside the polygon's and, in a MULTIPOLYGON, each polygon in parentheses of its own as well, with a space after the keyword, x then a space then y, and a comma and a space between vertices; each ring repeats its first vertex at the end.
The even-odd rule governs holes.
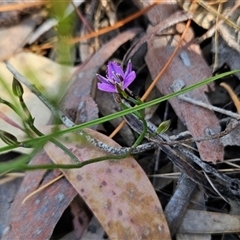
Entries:
MULTIPOLYGON (((156 41, 158 41, 158 39, 156 39, 156 41)), ((155 78, 159 69, 163 67, 169 58, 173 48, 170 46, 159 47, 154 44, 154 40, 148 43, 148 47, 146 62, 152 74, 152 78, 155 78), (158 56, 160 55, 161 58, 159 59, 158 56), (157 59, 158 61, 156 61, 157 59)), ((197 48, 197 46, 192 47, 197 48)), ((167 95, 172 93, 170 87, 176 80, 183 80, 185 86, 190 86, 210 76, 210 69, 203 58, 194 50, 182 48, 168 67, 164 76, 157 83, 157 87, 161 93, 167 95), (186 56, 186 61, 189 61, 189 66, 186 65, 185 59, 183 58, 184 56, 186 56)), ((207 88, 201 87, 188 94, 194 99, 207 103, 208 99, 204 93, 205 91, 207 91, 207 88)), ((177 98, 170 99, 169 102, 175 110, 175 113, 187 126, 192 136, 200 137, 220 132, 221 129, 214 112, 183 102, 177 98)), ((223 160, 223 147, 218 140, 200 142, 197 146, 202 160, 210 162, 223 160)))

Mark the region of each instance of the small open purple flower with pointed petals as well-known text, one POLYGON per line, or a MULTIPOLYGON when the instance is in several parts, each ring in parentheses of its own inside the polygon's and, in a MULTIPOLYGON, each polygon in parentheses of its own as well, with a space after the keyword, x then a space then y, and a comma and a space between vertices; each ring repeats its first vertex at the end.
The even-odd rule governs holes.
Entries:
POLYGON ((127 69, 123 69, 115 62, 109 62, 107 65, 107 75, 103 77, 97 74, 100 81, 98 89, 105 92, 118 92, 117 89, 126 89, 136 78, 135 71, 132 71, 132 63, 128 62, 127 69), (116 87, 118 85, 118 88, 116 87))

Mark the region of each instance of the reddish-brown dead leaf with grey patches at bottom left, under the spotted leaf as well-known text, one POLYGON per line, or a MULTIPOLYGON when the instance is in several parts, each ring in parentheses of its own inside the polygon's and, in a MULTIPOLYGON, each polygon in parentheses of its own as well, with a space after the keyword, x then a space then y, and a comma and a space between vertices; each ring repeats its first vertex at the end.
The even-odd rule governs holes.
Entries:
MULTIPOLYGON (((31 164, 51 164, 47 154, 40 153, 31 164)), ((65 178, 50 185, 44 191, 22 201, 33 191, 56 178, 59 171, 32 171, 19 188, 8 216, 8 226, 2 240, 8 239, 49 239, 64 210, 76 196, 75 189, 65 178)), ((7 216, 6 216, 7 217, 7 216)))

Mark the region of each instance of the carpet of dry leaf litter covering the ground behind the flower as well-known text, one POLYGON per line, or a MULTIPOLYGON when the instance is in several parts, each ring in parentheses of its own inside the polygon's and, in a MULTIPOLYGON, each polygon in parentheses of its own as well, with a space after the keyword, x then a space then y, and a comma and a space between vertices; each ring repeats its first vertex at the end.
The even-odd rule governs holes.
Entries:
MULTIPOLYGON (((122 2, 119 5, 110 0, 107 1, 107 5, 104 1, 100 1, 99 5, 94 1, 83 2, 77 8, 72 8, 74 9, 72 14, 77 15, 76 9, 78 9, 78 16, 79 13, 83 16, 83 22, 76 18, 76 22, 81 25, 82 30, 76 31, 74 35, 77 36, 79 33, 93 34, 95 38, 91 40, 85 38, 85 42, 76 44, 75 49, 71 48, 72 63, 64 63, 68 65, 67 67, 54 62, 56 60, 54 51, 57 50, 57 45, 51 42, 51 37, 59 37, 60 39, 62 36, 57 35, 53 29, 37 36, 32 44, 27 44, 27 38, 36 29, 36 24, 41 26, 44 21, 50 19, 45 14, 48 12, 49 6, 44 4, 35 8, 34 14, 37 16, 37 23, 31 25, 28 32, 21 31, 24 30, 24 21, 33 19, 34 15, 31 12, 24 13, 28 15, 26 19, 22 15, 17 16, 15 22, 10 24, 11 29, 17 30, 12 30, 12 35, 4 34, 5 40, 1 41, 2 51, 0 52, 2 60, 12 56, 12 64, 17 67, 19 72, 25 74, 26 78, 37 79, 38 87, 44 94, 48 98, 55 99, 56 103, 61 105, 64 113, 76 124, 96 119, 99 115, 104 116, 119 111, 113 98, 107 98, 106 96, 105 103, 103 104, 103 101, 101 101, 103 98, 99 97, 101 92, 96 87, 95 74, 103 73, 109 60, 121 62, 126 53, 128 55, 125 58, 131 56, 133 69, 139 69, 137 79, 130 85, 130 89, 134 95, 141 97, 146 91, 145 79, 149 76, 154 79, 159 71, 164 68, 180 40, 180 35, 183 33, 185 26, 183 21, 191 18, 191 14, 193 14, 193 20, 196 23, 192 23, 191 28, 185 33, 178 52, 158 80, 155 90, 162 95, 166 95, 179 90, 179 88, 197 83, 212 75, 212 66, 214 66, 214 70, 219 72, 239 68, 237 64, 239 62, 237 60, 239 49, 235 47, 239 42, 239 21, 237 19, 239 6, 237 5, 229 5, 230 3, 224 1, 213 1, 212 4, 210 1, 202 0, 195 1, 196 5, 193 7, 187 5, 188 1, 171 1, 171 3, 162 1, 159 4, 154 1, 137 1, 122 2), (183 2, 186 4, 183 4, 183 2), (153 6, 150 8, 151 3, 153 6), (184 13, 185 15, 182 14, 182 6, 184 6, 185 11, 188 11, 188 13, 184 13), (233 9, 234 7, 235 9, 233 9), (114 28, 114 26, 120 26, 121 21, 118 22, 118 20, 127 19, 137 11, 144 12, 145 8, 150 9, 145 15, 129 22, 127 26, 114 28), (231 11, 235 11, 234 15, 231 15, 229 21, 225 20, 231 11), (202 22, 199 19, 202 19, 202 22), (164 20, 168 24, 167 27, 163 24, 164 20), (201 44, 195 41, 196 36, 200 37, 201 34, 206 32, 200 27, 210 29, 215 23, 218 24, 217 29, 219 31, 214 32, 215 35, 211 38, 211 41, 205 40, 201 44), (115 30, 106 31, 102 34, 101 29, 106 26, 111 26, 110 28, 115 30), (159 28, 162 30, 159 30, 159 28), (98 36, 98 31, 101 36, 98 36), (220 36, 217 37, 218 32, 220 36), (11 41, 10 43, 6 40, 9 38, 11 40, 16 39, 18 42, 11 41), (84 44, 87 44, 87 46, 84 44), (147 52, 141 51, 144 46, 147 46, 147 52), (207 48, 213 49, 212 53, 217 55, 215 60, 217 59, 218 62, 212 60, 209 53, 205 51, 207 48), (35 52, 26 52, 31 49, 34 49, 35 52), (37 54, 42 54, 44 57, 37 54), (108 101, 109 105, 113 106, 109 109, 108 101)), ((68 7, 69 5, 66 6, 65 11, 68 7)), ((68 17, 70 19, 72 15, 68 17)), ((59 24, 66 19, 63 18, 59 24)), ((9 19, 1 18, 0 21, 6 21, 7 27, 5 28, 10 29, 9 19)), ((122 22, 126 21, 123 20, 122 22)), ((6 31, 6 29, 2 31, 6 31)), ((74 41, 74 39, 71 40, 74 41)), ((125 66, 126 64, 127 62, 125 62, 125 66)), ((7 86, 11 91, 12 77, 9 72, 6 73, 4 63, 0 65, 0 75, 1 82, 5 81, 4 86, 7 86)), ((220 108, 235 112, 235 106, 227 94, 225 94, 224 101, 219 97, 225 91, 219 85, 221 82, 226 82, 230 84, 233 90, 235 89, 236 94, 239 94, 239 79, 237 77, 239 77, 238 74, 235 77, 232 76, 231 79, 220 79, 214 84, 187 93, 187 96, 208 105, 214 102, 220 108), (206 92, 208 92, 207 95, 206 92)), ((35 96, 27 88, 24 87, 24 91, 24 98, 30 111, 36 111, 33 113, 36 126, 39 129, 45 129, 41 126, 53 123, 51 113, 41 101, 35 102, 33 100, 35 96)), ((12 100, 11 97, 9 98, 9 91, 3 85, 1 85, 0 97, 12 100)), ((186 134, 193 138, 211 136, 220 133, 229 121, 229 117, 178 98, 171 99, 169 103, 170 105, 161 103, 149 117, 149 120, 154 121, 154 123, 159 122, 159 120, 171 119, 172 125, 167 132, 169 135, 181 135, 184 131, 188 131, 186 134)), ((23 132, 20 131, 19 127, 18 129, 14 127, 17 124, 22 127, 21 119, 5 105, 1 104, 0 107, 4 114, 1 115, 0 128, 22 140, 23 132)), ((119 122, 104 123, 101 126, 95 126, 95 130, 88 130, 88 132, 92 136, 100 138, 106 144, 113 144, 117 147, 120 147, 120 145, 129 146, 136 135, 128 126, 125 126, 125 131, 121 131, 114 137, 114 141, 98 132, 101 131, 105 135, 110 135, 119 122), (120 145, 117 145, 116 142, 120 145)), ((209 184, 213 186, 215 194, 208 192, 203 188, 204 186, 197 189, 198 182, 196 179, 193 177, 189 179, 184 174, 179 177, 177 185, 177 181, 174 179, 171 179, 171 181, 169 179, 165 180, 164 178, 169 171, 179 173, 179 169, 174 165, 166 168, 165 166, 169 165, 168 156, 161 151, 158 151, 158 153, 149 151, 122 160, 103 161, 80 169, 27 172, 13 203, 10 206, 1 205, 1 209, 4 208, 8 217, 5 221, 0 222, 0 236, 3 239, 29 238, 30 236, 31 238, 60 239, 65 235, 66 239, 69 239, 67 238, 67 236, 70 236, 68 234, 73 234, 78 238, 85 239, 90 232, 94 235, 94 230, 91 230, 91 227, 96 227, 97 224, 96 221, 95 225, 91 225, 90 222, 90 218, 94 215, 110 239, 170 239, 175 234, 177 237, 180 237, 179 234, 186 234, 186 237, 194 236, 197 239, 199 235, 192 235, 196 233, 208 234, 208 237, 211 234, 231 233, 237 239, 237 235, 234 235, 234 233, 239 232, 239 224, 237 223, 239 221, 239 200, 231 194, 227 194, 235 191, 236 196, 238 196, 239 171, 237 168, 224 169, 224 167, 228 166, 227 163, 231 159, 235 159, 235 164, 238 164, 238 132, 237 128, 222 139, 201 141, 189 146, 194 149, 194 154, 199 154, 201 160, 215 164, 214 167, 219 173, 222 171, 229 172, 230 178, 224 178, 225 175, 220 174, 220 178, 217 178, 217 180, 211 178, 211 172, 205 172, 205 175, 202 175, 202 178, 206 178, 209 184), (198 152, 196 153, 196 151, 198 152), (225 165, 219 164, 219 162, 223 162, 225 165), (165 171, 168 172, 162 174, 162 169, 166 169, 165 171), (143 170, 151 177, 148 178, 143 170), (23 199, 29 194, 34 193, 40 187, 44 187, 45 184, 57 176, 61 176, 62 173, 65 177, 61 177, 60 180, 43 188, 42 191, 36 192, 26 202, 22 203, 23 199), (159 178, 163 183, 154 184, 159 181, 159 178), (155 186, 155 191, 149 179, 155 186), (221 199, 221 195, 224 193, 221 190, 222 186, 226 188, 226 194, 222 196, 223 199, 221 199), (218 195, 218 191, 220 195, 218 195), (205 195, 205 199, 198 199, 195 204, 190 204, 193 196, 197 194, 196 192, 201 193, 202 196, 205 195), (78 204, 78 207, 76 207, 76 204, 78 204), (198 204, 203 206, 201 210, 198 209, 198 204), (189 209, 190 205, 191 210, 189 209), (176 207, 178 209, 174 210, 176 207), (162 210, 164 208, 165 212, 162 210), (172 211, 175 215, 170 214, 172 211), (213 213, 213 211, 217 213, 213 213), (222 211, 225 211, 225 213, 223 214, 222 211), (81 214, 78 214, 78 212, 81 212, 81 214), (75 220, 68 222, 67 225, 70 226, 68 228, 59 227, 61 221, 66 218, 66 214, 71 216, 70 219, 75 216, 75 220), (79 220, 76 220, 76 216, 79 216, 79 220), (25 220, 22 221, 22 219, 25 220), (48 220, 46 221, 46 219, 48 220), (222 220, 220 227, 214 224, 216 219, 222 220), (26 221, 29 223, 28 225, 26 225, 26 221), (209 227, 206 228, 206 226, 209 227)), ((79 158, 79 161, 107 155, 102 150, 77 138, 75 134, 64 135, 63 138, 65 138, 64 145, 79 158)), ((4 144, 1 143, 1 146, 4 146, 4 144)), ((72 163, 71 159, 52 143, 45 146, 45 151, 46 153, 44 151, 39 152, 30 164, 72 163)), ((24 152, 26 153, 26 151, 24 152)), ((29 151, 27 152, 29 153, 29 151)), ((13 184, 16 183, 13 182, 13 184)), ((0 187, 3 188, 4 184, 0 187)), ((6 200, 1 195, 0 202, 3 201, 6 200)), ((104 231, 97 231, 97 233, 103 234, 104 231)), ((104 236, 97 237, 103 238, 104 236)))

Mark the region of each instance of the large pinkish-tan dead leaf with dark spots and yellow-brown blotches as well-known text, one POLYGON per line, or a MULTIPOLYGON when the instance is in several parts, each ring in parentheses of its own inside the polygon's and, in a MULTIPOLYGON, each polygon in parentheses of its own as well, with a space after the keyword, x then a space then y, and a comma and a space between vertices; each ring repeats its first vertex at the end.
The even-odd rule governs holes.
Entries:
MULTIPOLYGON (((108 145, 112 139, 94 131, 89 134, 108 145)), ((106 156, 80 136, 70 134, 63 143, 79 161, 106 156)), ((45 150, 56 164, 72 164, 61 149, 49 143, 45 150)), ((80 169, 62 170, 88 204, 110 239, 170 239, 159 199, 147 176, 132 157, 106 160, 80 169)))

